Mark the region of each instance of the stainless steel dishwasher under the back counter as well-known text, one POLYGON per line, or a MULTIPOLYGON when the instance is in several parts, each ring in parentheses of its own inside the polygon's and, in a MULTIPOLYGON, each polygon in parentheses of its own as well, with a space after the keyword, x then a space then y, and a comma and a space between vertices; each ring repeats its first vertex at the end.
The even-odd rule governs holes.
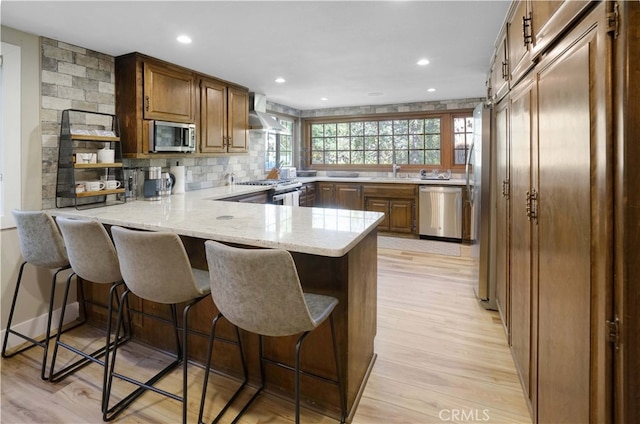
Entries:
POLYGON ((462 187, 421 186, 420 236, 462 239, 462 187))

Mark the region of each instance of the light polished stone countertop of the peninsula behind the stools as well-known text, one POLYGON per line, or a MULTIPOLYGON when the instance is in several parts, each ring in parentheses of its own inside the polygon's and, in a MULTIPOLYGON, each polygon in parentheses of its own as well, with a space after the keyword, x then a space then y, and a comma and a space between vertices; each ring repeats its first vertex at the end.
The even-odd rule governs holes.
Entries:
POLYGON ((54 216, 94 218, 103 224, 330 257, 347 254, 384 217, 379 212, 217 200, 263 190, 256 186, 223 186, 174 194, 158 201, 135 200, 48 212, 54 216))

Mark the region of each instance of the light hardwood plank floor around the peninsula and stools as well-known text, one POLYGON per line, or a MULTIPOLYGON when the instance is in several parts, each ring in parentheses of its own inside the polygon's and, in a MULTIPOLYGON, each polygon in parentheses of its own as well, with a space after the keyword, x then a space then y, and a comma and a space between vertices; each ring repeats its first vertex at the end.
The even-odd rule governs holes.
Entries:
MULTIPOLYGON (((377 361, 353 422, 530 423, 529 412, 498 315, 474 298, 470 261, 401 250, 378 251, 377 361)), ((74 330, 75 331, 75 330, 74 330)), ((83 330, 76 342, 90 343, 83 330)), ((0 422, 99 423, 101 367, 90 365, 60 383, 39 379, 40 349, 2 360, 0 422)), ((157 366, 166 357, 129 343, 126 366, 157 366)), ((189 422, 197 421, 203 371, 190 367, 189 422)), ((181 371, 161 386, 179 392, 181 371)), ((206 417, 215 415, 235 382, 212 374, 206 417)), ((117 383, 114 390, 130 390, 117 383)), ((249 395, 249 394, 247 394, 249 395)), ((178 402, 147 393, 116 422, 177 423, 178 402)), ((227 414, 223 422, 230 422, 227 414)), ((293 421, 293 405, 261 396, 242 423, 293 421)), ((333 423, 303 409, 305 423, 333 423)))

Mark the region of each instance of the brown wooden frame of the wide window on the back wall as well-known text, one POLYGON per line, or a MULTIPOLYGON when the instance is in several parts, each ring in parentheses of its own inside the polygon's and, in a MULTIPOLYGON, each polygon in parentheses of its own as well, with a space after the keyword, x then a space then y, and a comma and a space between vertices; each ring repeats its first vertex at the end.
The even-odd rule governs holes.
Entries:
POLYGON ((363 170, 372 172, 384 172, 391 169, 391 164, 315 164, 311 162, 311 126, 312 124, 330 124, 330 123, 352 123, 365 121, 386 121, 386 120, 403 120, 403 119, 428 119, 440 118, 440 164, 404 164, 402 172, 419 172, 422 169, 427 171, 433 169, 451 169, 454 172, 464 172, 465 165, 454 165, 455 143, 454 143, 454 117, 473 117, 473 109, 455 109, 455 110, 435 110, 422 112, 397 112, 384 114, 362 114, 362 115, 342 115, 342 116, 324 116, 309 117, 302 120, 302 152, 304 154, 303 161, 306 168, 316 170, 363 170))

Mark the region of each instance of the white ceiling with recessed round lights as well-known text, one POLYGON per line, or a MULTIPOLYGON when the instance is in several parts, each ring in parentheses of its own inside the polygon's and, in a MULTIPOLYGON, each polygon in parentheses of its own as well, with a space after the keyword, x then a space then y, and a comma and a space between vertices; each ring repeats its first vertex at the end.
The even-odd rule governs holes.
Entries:
POLYGON ((3 0, 0 16, 15 29, 112 56, 138 51, 308 110, 484 96, 508 7, 506 0, 3 0), (180 34, 193 42, 177 43, 180 34), (421 58, 431 63, 418 66, 421 58))

